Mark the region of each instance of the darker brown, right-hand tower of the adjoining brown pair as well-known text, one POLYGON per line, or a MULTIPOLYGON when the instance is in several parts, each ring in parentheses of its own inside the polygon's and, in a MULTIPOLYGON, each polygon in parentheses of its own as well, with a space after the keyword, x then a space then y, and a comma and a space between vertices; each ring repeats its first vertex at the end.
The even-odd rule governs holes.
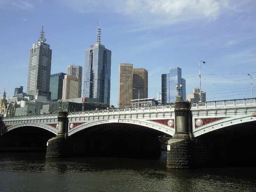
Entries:
POLYGON ((148 70, 133 68, 132 88, 133 100, 139 98, 139 90, 140 99, 148 98, 148 70))

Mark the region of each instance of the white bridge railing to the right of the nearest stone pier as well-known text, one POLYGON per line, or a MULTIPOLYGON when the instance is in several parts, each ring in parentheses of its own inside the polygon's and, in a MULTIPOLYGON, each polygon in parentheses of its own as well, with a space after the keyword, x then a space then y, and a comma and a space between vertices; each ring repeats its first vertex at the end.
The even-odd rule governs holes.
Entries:
POLYGON ((195 108, 219 108, 219 107, 244 107, 256 106, 256 99, 240 99, 240 100, 222 100, 222 101, 205 101, 191 103, 191 109, 195 108))

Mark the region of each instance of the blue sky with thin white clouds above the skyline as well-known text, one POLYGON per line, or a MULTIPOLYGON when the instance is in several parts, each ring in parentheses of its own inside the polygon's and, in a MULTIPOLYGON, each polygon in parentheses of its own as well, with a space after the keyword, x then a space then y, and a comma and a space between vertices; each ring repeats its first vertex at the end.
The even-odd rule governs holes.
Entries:
POLYGON ((51 74, 84 67, 96 43, 112 51, 111 98, 117 106, 118 65, 148 70, 148 97, 161 92, 161 74, 182 69, 186 92, 201 87, 207 100, 256 97, 256 1, 224 0, 0 0, 0 92, 27 88, 29 50, 44 25, 52 49, 51 74), (216 75, 217 74, 217 75, 216 75), (220 75, 225 74, 225 75, 220 75), (227 75, 229 74, 229 75, 227 75))

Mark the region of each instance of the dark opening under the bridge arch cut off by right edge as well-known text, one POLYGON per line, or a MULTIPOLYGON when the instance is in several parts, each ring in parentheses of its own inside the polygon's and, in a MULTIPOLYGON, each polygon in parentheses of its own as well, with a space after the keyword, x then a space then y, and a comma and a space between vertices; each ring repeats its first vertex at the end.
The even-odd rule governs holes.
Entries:
POLYGON ((255 167, 256 121, 230 125, 195 139, 211 142, 212 158, 222 166, 255 167))

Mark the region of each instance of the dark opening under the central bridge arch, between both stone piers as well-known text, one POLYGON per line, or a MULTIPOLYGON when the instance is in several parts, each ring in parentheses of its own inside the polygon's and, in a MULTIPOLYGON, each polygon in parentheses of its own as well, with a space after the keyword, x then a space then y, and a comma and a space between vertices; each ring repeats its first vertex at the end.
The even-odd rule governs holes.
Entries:
POLYGON ((161 155, 158 137, 163 134, 141 125, 109 123, 81 129, 70 137, 84 146, 85 156, 157 159, 161 155))

